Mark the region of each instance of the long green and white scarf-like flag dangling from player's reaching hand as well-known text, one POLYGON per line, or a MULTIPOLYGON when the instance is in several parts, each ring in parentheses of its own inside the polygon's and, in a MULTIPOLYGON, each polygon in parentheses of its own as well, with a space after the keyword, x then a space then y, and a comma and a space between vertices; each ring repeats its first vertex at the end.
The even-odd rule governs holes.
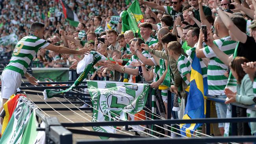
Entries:
POLYGON ((69 87, 68 89, 62 91, 45 89, 43 91, 44 100, 46 101, 48 98, 52 98, 59 94, 64 94, 65 92, 69 92, 70 90, 74 89, 80 84, 81 81, 83 81, 83 79, 87 77, 87 74, 97 62, 104 60, 106 60, 106 57, 104 55, 101 55, 100 53, 95 51, 91 51, 90 54, 85 55, 82 61, 78 63, 76 72, 78 74, 82 72, 82 74, 80 74, 80 76, 76 79, 74 84, 71 85, 71 87, 69 87))

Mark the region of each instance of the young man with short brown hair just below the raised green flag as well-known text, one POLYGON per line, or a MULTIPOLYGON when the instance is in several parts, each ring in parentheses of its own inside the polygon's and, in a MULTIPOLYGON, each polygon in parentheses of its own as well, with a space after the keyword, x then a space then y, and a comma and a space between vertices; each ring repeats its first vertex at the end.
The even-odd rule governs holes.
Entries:
POLYGON ((141 37, 144 39, 145 43, 148 44, 148 46, 154 46, 158 42, 158 40, 151 35, 152 25, 148 22, 144 22, 140 24, 139 27, 141 37))

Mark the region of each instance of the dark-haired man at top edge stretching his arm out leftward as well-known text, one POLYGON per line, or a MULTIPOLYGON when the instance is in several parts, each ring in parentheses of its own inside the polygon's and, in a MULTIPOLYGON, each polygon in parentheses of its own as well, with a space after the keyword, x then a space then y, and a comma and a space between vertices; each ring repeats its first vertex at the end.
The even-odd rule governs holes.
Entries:
POLYGON ((172 0, 172 6, 159 6, 153 2, 147 2, 145 0, 139 0, 143 4, 152 7, 154 9, 158 9, 160 11, 165 11, 166 14, 171 15, 174 20, 175 15, 182 15, 182 0, 172 0))

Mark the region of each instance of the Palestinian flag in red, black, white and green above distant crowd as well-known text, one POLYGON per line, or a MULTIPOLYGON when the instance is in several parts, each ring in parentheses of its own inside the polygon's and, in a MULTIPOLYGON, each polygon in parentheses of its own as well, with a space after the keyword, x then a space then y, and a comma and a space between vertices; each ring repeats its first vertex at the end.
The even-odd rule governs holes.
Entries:
POLYGON ((72 9, 70 9, 70 7, 64 2, 64 0, 61 0, 60 2, 62 5, 64 17, 66 18, 66 20, 69 21, 69 24, 71 26, 77 27, 79 24, 79 20, 76 13, 72 11, 72 9))

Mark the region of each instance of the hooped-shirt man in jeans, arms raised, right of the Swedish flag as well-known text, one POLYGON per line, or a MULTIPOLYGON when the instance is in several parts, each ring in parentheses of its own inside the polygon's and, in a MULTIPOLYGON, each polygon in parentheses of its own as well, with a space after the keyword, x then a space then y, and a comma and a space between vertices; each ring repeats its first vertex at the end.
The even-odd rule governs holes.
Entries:
MULTIPOLYGON (((215 18, 214 28, 216 35, 221 37, 221 39, 216 39, 214 44, 225 54, 234 54, 237 42, 232 40, 228 29, 219 16, 215 18)), ((200 36, 196 46, 196 55, 198 58, 206 57, 210 59, 207 70, 208 93, 216 97, 226 98, 224 89, 227 85, 228 78, 224 76, 224 73, 228 70, 228 66, 224 65, 210 46, 202 47, 202 31, 200 36)), ((216 103, 215 105, 218 118, 226 118, 227 105, 223 103, 216 103)), ((225 123, 219 123, 219 129, 222 135, 224 134, 224 125, 225 123)))

